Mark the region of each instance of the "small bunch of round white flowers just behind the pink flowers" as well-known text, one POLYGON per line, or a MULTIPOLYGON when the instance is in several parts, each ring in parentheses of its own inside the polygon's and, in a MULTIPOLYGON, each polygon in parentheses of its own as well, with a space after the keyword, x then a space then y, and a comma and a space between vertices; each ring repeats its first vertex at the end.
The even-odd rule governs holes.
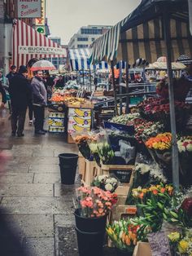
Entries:
POLYGON ((94 179, 92 186, 102 188, 104 191, 115 192, 118 187, 118 180, 108 175, 100 175, 94 179))

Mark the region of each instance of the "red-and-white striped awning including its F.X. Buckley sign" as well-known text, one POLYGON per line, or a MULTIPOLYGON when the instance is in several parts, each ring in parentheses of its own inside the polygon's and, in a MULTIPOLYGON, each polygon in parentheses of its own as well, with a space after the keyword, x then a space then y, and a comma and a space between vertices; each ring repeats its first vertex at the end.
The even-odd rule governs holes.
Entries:
POLYGON ((16 20, 12 37, 12 63, 16 67, 28 64, 33 58, 66 57, 66 49, 59 46, 43 34, 28 26, 21 20, 16 20))

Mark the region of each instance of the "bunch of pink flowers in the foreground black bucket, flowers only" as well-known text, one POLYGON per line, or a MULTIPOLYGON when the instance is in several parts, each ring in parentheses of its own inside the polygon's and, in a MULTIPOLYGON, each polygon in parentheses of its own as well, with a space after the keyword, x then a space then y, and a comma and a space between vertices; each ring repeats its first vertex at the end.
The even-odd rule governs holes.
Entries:
POLYGON ((81 216, 95 218, 109 213, 111 207, 116 204, 117 195, 97 187, 81 187, 77 189, 77 200, 81 216))

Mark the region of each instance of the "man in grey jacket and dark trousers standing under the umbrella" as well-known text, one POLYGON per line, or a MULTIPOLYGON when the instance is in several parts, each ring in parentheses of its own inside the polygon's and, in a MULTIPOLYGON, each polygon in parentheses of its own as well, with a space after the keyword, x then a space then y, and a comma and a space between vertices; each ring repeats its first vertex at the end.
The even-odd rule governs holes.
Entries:
POLYGON ((42 71, 37 71, 31 83, 33 90, 33 112, 35 117, 34 126, 36 135, 46 134, 46 130, 43 129, 43 124, 45 118, 45 106, 47 104, 47 92, 42 76, 42 71))

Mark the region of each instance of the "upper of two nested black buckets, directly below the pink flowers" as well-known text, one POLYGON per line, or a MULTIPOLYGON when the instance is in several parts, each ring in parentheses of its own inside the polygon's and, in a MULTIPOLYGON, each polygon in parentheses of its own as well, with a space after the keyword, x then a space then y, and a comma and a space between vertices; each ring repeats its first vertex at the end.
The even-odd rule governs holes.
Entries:
POLYGON ((85 218, 80 216, 79 209, 75 210, 76 227, 82 232, 105 232, 107 216, 99 218, 85 218))

